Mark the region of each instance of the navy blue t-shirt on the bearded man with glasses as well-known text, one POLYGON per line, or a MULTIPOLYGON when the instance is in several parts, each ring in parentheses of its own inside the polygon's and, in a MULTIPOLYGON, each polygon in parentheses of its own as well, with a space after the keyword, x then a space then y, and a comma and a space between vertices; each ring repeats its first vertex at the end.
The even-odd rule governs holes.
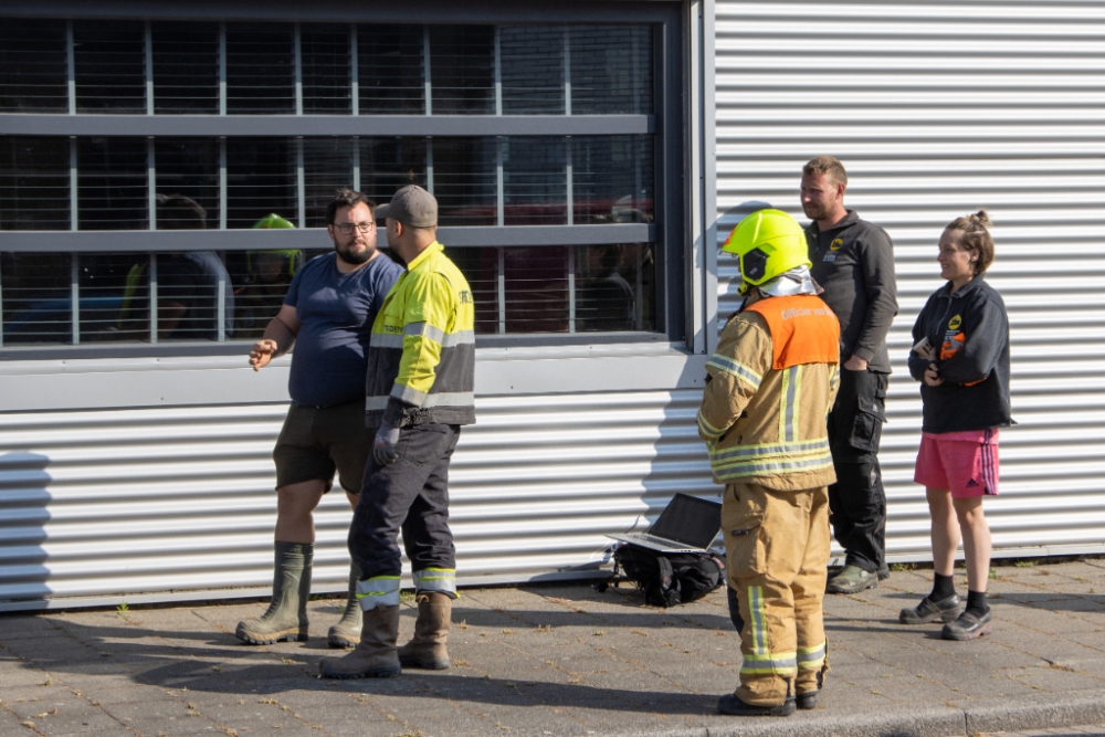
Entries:
POLYGON ((287 382, 292 402, 334 407, 365 398, 365 352, 376 314, 402 266, 385 254, 343 274, 337 254, 308 261, 287 288, 284 304, 302 323, 287 382))

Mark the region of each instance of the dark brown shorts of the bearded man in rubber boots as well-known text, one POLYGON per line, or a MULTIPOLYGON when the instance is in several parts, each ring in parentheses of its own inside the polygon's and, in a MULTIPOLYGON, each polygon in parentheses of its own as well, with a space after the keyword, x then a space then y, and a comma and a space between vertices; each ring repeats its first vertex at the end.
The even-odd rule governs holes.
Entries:
POLYGON ((365 427, 365 400, 335 407, 292 404, 273 450, 276 488, 319 478, 326 491, 338 472, 341 488, 360 494, 376 430, 365 427))

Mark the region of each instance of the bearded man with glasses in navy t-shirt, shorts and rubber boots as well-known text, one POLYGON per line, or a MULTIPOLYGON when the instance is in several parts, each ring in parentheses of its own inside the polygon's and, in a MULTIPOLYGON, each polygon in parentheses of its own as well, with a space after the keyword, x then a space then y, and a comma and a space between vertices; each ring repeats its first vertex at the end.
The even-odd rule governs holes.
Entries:
MULTIPOLYGON (((269 610, 239 622, 240 640, 257 645, 307 639, 307 599, 315 547, 312 513, 334 483, 357 507, 375 430, 365 428, 365 375, 376 314, 402 267, 376 249, 376 203, 340 189, 326 208, 334 253, 312 259, 292 280, 280 313, 253 345, 259 370, 295 345, 288 393, 292 407, 281 430, 276 462, 276 570, 269 610)), ((352 565, 349 599, 326 641, 332 647, 360 642, 360 607, 352 565)))

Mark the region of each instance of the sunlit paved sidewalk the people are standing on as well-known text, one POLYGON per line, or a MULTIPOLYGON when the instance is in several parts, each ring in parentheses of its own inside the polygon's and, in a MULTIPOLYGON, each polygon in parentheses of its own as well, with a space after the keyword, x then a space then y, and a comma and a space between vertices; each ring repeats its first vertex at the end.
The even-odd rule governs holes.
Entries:
POLYGON ((233 635, 256 600, 4 614, 0 735, 1105 735, 1105 560, 996 567, 993 633, 967 643, 897 623, 930 577, 827 597, 832 673, 788 718, 715 714, 740 667, 724 590, 661 610, 627 585, 465 589, 452 668, 362 681, 315 677, 338 599, 311 603, 311 641, 264 647, 233 635))

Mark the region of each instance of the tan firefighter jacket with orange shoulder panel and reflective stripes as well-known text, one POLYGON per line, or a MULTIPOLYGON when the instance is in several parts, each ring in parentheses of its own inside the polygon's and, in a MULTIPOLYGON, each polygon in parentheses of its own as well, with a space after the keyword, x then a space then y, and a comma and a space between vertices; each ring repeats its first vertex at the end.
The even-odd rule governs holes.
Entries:
POLYGON ((698 410, 717 483, 799 491, 835 481, 825 418, 839 345, 836 317, 812 295, 761 298, 726 324, 698 410))

